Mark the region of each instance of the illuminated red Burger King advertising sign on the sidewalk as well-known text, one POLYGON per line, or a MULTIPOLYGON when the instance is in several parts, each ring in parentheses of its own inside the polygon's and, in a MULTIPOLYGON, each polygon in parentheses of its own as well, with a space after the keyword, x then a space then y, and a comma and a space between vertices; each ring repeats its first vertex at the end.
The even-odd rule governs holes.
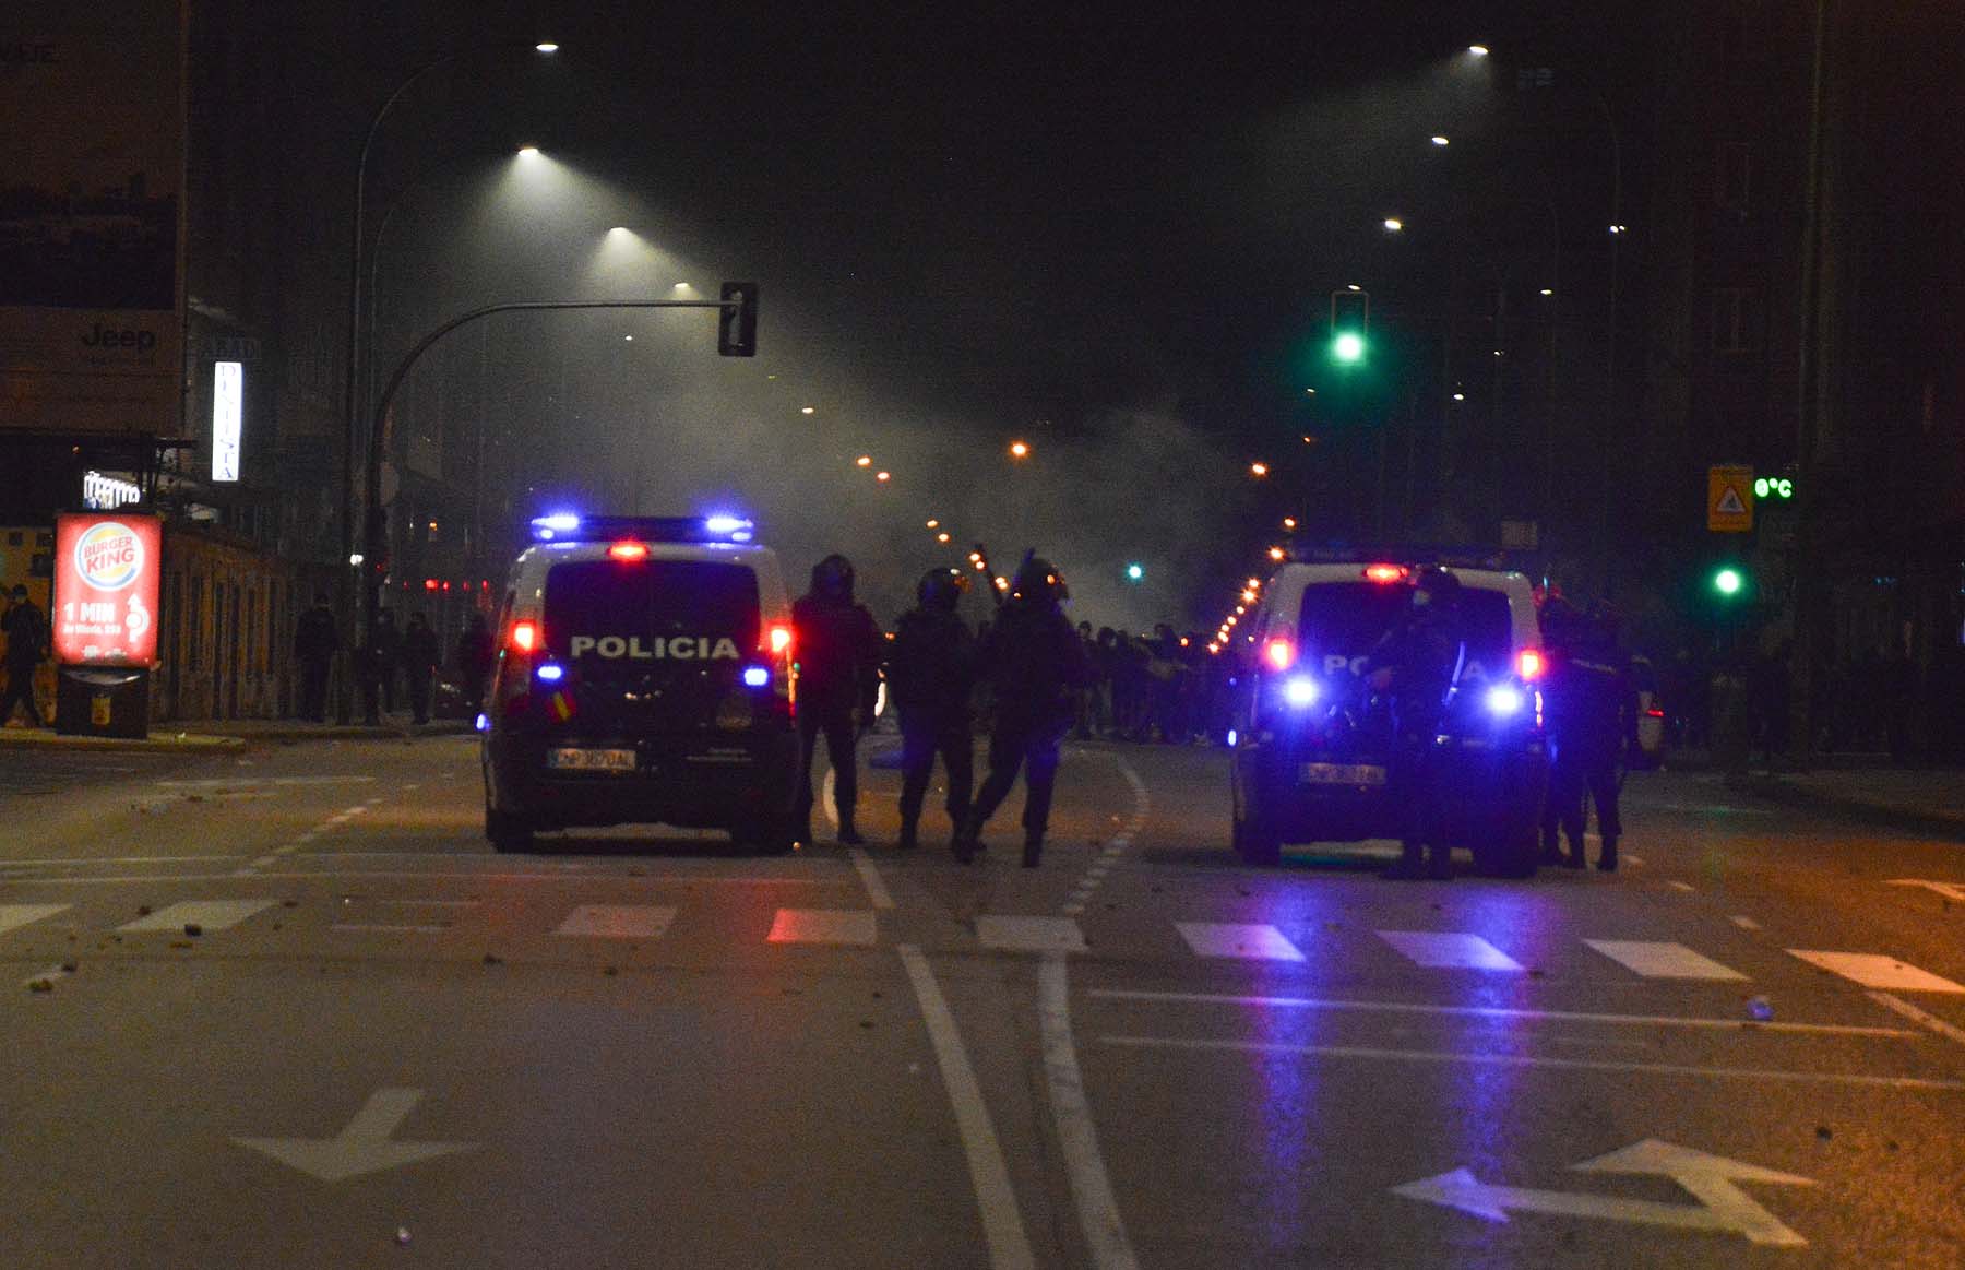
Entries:
POLYGON ((163 521, 153 515, 57 515, 55 661, 155 663, 161 564, 163 521))

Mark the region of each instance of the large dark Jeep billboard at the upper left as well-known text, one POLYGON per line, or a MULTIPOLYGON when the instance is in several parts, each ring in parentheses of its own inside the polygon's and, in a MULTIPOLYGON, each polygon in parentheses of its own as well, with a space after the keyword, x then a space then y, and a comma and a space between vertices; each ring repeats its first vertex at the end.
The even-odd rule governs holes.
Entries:
POLYGON ((0 6, 0 431, 177 434, 183 0, 0 6))

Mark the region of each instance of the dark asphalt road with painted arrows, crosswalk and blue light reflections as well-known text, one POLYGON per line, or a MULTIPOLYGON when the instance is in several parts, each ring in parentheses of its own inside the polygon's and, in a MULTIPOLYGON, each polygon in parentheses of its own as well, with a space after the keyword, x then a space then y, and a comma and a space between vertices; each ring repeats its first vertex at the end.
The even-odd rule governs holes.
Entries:
MULTIPOLYGON (((10 1268, 1957 1266, 1957 843, 1627 790, 1627 867, 1252 871, 1224 757, 1053 843, 501 857, 466 737, 0 751, 10 1268)), ((931 800, 933 806, 933 800, 931 800)))

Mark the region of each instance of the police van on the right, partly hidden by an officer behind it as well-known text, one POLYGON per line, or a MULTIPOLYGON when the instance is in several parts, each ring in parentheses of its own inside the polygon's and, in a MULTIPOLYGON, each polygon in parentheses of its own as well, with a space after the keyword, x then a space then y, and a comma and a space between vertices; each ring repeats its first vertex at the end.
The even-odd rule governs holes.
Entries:
MULTIPOLYGON (((1391 780, 1389 704, 1364 678, 1405 621, 1421 570, 1438 560, 1348 556, 1283 564, 1242 627, 1232 745, 1234 847, 1269 865, 1285 843, 1397 837, 1405 790, 1391 780)), ((1529 580, 1450 566, 1460 649, 1427 755, 1431 822, 1478 867, 1535 871, 1548 782, 1541 627, 1529 580)))

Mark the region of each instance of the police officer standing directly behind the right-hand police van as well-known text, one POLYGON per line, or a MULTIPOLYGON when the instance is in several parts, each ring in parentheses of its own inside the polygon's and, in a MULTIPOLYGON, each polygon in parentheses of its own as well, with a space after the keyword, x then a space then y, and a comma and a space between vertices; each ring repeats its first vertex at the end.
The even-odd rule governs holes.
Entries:
POLYGON ((1446 712, 1446 692, 1460 670, 1460 580, 1444 568, 1429 568, 1413 584, 1411 607, 1385 631, 1366 659, 1364 678, 1391 704, 1393 751, 1389 792, 1405 824, 1399 832, 1399 863, 1385 871, 1393 879, 1448 879, 1452 845, 1436 836, 1432 800, 1438 780, 1434 743, 1446 712), (1429 859, 1421 861, 1421 851, 1429 859))

